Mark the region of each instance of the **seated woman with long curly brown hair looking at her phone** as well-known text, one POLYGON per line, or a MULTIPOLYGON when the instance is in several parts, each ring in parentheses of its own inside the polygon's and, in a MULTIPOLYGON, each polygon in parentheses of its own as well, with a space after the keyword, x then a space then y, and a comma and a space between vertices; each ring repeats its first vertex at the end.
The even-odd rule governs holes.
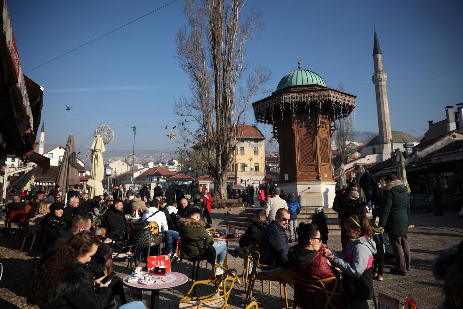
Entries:
MULTIPOLYGON (((63 249, 47 259, 26 285, 24 295, 28 303, 41 309, 88 308, 103 309, 112 296, 103 277, 96 280, 85 265, 95 254, 100 240, 93 233, 83 231, 75 234, 63 249), (94 288, 95 287, 95 288, 94 288)), ((120 309, 144 309, 142 302, 122 305, 120 309)))

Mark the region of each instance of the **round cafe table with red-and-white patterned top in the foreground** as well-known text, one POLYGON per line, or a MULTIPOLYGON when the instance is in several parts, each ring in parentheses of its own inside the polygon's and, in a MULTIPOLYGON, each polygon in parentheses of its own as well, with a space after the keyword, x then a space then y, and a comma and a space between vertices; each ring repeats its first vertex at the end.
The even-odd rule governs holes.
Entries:
POLYGON ((169 271, 165 276, 153 276, 156 282, 152 284, 140 283, 141 278, 136 282, 127 282, 127 279, 132 276, 128 275, 122 279, 122 283, 131 289, 151 291, 151 309, 159 308, 159 291, 170 290, 188 282, 186 275, 176 271, 169 271))

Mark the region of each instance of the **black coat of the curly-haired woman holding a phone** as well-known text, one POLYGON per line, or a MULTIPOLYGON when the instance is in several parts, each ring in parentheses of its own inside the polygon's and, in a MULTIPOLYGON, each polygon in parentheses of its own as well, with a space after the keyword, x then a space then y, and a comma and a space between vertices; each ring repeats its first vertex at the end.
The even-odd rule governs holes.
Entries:
POLYGON ((63 272, 56 291, 50 295, 39 294, 28 302, 37 304, 41 309, 103 309, 113 294, 111 288, 93 289, 93 273, 81 262, 75 260, 63 272))

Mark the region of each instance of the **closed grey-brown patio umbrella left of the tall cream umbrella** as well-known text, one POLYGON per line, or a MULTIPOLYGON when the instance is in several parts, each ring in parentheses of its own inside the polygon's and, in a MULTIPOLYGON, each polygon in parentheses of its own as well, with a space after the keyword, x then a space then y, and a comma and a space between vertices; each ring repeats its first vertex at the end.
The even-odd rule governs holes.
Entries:
POLYGON ((66 143, 63 159, 56 176, 56 184, 62 188, 63 193, 68 192, 71 186, 80 184, 79 172, 77 171, 77 158, 75 156, 74 135, 72 134, 69 135, 68 142, 66 143))

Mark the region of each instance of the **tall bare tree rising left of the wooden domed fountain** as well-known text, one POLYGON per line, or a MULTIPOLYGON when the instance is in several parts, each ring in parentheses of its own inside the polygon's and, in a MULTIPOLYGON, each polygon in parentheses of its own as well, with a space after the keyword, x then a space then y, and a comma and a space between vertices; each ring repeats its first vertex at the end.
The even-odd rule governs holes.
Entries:
POLYGON ((192 164, 215 179, 216 197, 226 198, 244 112, 254 95, 269 91, 264 88, 270 70, 244 60, 245 43, 264 26, 262 13, 251 8, 241 17, 245 0, 185 2, 188 26, 177 33, 175 58, 190 79, 192 96, 174 103, 174 113, 183 142, 196 145, 192 164))

